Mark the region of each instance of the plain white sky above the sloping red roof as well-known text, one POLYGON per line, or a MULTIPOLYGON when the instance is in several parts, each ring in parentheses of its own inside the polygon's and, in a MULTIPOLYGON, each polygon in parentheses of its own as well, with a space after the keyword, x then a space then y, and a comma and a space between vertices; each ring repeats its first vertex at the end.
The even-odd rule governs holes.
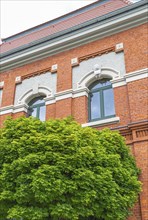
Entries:
POLYGON ((12 36, 95 1, 0 0, 0 38, 12 36))

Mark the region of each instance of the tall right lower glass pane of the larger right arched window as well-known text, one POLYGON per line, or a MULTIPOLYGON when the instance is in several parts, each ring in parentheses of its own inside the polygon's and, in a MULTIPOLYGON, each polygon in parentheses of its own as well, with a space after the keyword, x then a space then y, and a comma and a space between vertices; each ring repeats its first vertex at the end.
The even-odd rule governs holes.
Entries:
POLYGON ((115 115, 114 108, 114 94, 113 89, 106 89, 103 91, 104 96, 104 116, 115 115))

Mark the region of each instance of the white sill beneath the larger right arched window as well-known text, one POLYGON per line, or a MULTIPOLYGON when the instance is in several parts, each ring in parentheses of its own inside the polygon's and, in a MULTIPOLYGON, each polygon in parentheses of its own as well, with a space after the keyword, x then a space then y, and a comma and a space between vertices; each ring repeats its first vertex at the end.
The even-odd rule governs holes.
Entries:
POLYGON ((120 121, 119 117, 113 117, 113 118, 107 118, 107 119, 103 119, 103 120, 88 122, 86 124, 82 124, 82 127, 88 127, 88 126, 99 127, 102 125, 117 123, 119 121, 120 121))

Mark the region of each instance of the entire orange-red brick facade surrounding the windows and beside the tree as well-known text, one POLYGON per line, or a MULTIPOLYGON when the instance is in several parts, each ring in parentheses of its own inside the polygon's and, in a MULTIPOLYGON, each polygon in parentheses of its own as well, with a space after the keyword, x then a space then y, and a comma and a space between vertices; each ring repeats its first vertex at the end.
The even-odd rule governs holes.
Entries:
MULTIPOLYGON (((43 69, 51 69, 52 65, 57 64, 58 69, 56 92, 64 92, 73 88, 73 68, 71 59, 77 57, 79 63, 81 59, 85 61, 105 50, 105 54, 110 53, 109 48, 115 48, 115 45, 123 43, 124 63, 126 74, 147 68, 147 24, 135 25, 128 30, 122 30, 119 33, 103 37, 101 39, 89 42, 87 44, 68 49, 66 51, 48 56, 44 59, 24 64, 20 67, 10 68, 0 74, 0 81, 4 81, 1 109, 14 105, 14 97, 17 84, 17 76, 36 77, 36 72, 44 74, 43 69), (91 56, 92 55, 92 56, 91 56)), ((113 49, 114 50, 114 49, 113 49)), ((120 52, 119 52, 120 53, 120 52)), ((100 54, 100 56, 102 56, 100 54)), ((79 66, 77 66, 79 68, 79 66)), ((133 74, 134 75, 134 74, 133 74)), ((134 78, 127 83, 113 88, 116 116, 120 118, 119 122, 99 125, 102 129, 109 127, 116 129, 125 136, 127 144, 136 158, 138 167, 141 169, 140 180, 143 183, 142 192, 138 203, 133 209, 133 216, 130 220, 148 220, 148 80, 146 77, 134 78)), ((25 112, 5 113, 0 115, 0 124, 7 116, 13 118, 25 115, 25 112)), ((88 122, 88 98, 65 97, 57 99, 51 104, 46 105, 46 119, 63 118, 72 115, 79 123, 88 122)))

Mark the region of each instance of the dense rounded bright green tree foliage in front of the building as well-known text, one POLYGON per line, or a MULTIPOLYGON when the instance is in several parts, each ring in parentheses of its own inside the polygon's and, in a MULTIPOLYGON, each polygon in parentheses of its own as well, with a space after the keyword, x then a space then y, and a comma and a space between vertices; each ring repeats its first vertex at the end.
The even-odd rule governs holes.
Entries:
POLYGON ((126 219, 138 172, 118 132, 71 118, 8 119, 0 131, 0 219, 126 219))

